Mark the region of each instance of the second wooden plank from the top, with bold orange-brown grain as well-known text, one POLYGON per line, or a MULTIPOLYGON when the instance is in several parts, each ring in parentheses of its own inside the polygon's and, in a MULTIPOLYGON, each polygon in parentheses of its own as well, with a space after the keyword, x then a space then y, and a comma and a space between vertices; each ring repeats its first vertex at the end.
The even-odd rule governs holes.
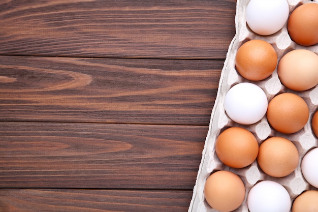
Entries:
POLYGON ((208 125, 222 66, 0 56, 0 121, 208 125))

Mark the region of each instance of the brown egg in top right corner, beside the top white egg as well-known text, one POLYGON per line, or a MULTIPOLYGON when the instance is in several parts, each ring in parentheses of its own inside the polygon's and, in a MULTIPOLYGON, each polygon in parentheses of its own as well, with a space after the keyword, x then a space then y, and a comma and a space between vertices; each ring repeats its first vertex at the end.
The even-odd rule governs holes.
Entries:
POLYGON ((297 7, 287 22, 292 40, 303 46, 318 43, 318 4, 307 3, 297 7))

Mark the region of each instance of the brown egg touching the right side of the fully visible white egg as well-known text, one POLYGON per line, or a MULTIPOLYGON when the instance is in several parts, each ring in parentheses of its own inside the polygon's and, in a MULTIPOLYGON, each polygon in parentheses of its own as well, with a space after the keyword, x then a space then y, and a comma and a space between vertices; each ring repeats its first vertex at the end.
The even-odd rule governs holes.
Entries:
POLYGON ((290 134, 298 132, 306 125, 309 108, 296 94, 283 93, 269 102, 266 116, 272 128, 290 134))

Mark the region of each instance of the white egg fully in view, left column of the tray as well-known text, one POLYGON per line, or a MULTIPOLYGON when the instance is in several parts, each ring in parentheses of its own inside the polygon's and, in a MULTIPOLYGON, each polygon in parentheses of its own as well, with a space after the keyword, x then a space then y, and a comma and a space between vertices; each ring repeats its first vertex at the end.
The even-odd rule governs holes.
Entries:
POLYGON ((226 94, 225 111, 234 122, 242 125, 257 123, 267 111, 265 92, 256 84, 242 82, 234 85, 226 94))

